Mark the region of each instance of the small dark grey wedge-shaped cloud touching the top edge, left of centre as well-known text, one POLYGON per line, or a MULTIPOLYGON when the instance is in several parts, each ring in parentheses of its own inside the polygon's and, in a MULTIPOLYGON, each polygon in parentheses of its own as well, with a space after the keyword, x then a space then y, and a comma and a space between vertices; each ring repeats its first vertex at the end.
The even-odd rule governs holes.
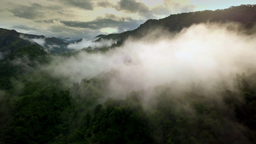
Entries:
POLYGON ((68 5, 75 6, 84 10, 93 10, 92 0, 59 0, 61 3, 64 2, 68 5))

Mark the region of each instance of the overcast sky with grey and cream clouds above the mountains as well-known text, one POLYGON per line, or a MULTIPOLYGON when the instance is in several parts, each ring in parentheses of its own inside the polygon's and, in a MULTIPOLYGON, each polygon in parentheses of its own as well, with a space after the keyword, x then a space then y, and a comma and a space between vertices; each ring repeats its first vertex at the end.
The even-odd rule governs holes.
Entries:
POLYGON ((134 30, 148 19, 255 0, 0 0, 0 28, 69 39, 134 30))

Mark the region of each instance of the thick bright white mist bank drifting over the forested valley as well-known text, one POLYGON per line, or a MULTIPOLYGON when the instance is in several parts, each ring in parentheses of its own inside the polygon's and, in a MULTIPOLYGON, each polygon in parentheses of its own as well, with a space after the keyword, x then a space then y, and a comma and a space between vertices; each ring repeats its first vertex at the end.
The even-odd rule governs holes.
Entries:
MULTIPOLYGON (((70 58, 58 57, 47 69, 52 76, 68 77, 70 83, 90 79, 102 71, 117 70, 110 89, 118 91, 141 90, 169 82, 201 81, 211 85, 228 81, 236 73, 252 72, 255 35, 245 35, 236 27, 197 24, 178 34, 154 30, 141 39, 129 38, 122 47, 104 54, 80 52, 70 58)), ((87 42, 83 40, 73 46, 86 47, 87 42)))

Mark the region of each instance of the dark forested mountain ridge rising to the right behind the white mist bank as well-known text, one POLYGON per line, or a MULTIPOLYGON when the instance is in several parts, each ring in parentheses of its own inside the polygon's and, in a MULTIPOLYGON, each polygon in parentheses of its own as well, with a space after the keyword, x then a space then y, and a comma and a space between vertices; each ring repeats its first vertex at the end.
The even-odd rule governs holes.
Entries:
POLYGON ((204 10, 198 12, 188 12, 181 14, 171 14, 166 18, 159 20, 150 19, 144 24, 141 24, 138 28, 119 34, 108 34, 102 36, 104 39, 114 39, 122 42, 129 36, 142 37, 146 31, 155 28, 163 28, 169 32, 179 32, 183 28, 188 28, 192 24, 199 24, 202 22, 237 22, 240 23, 244 29, 248 30, 248 33, 254 33, 250 31, 256 24, 256 5, 240 5, 231 6, 224 10, 204 10))

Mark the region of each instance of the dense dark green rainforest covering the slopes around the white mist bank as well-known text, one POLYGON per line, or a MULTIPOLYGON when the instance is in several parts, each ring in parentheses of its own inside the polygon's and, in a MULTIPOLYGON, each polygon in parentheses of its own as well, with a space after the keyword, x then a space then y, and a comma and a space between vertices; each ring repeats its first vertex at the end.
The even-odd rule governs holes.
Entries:
MULTIPOLYGON (((146 29, 160 27, 175 33, 202 22, 238 22, 243 34, 253 35, 256 6, 148 20, 134 31, 102 36, 100 39, 118 41, 96 52, 57 48, 46 52, 46 48, 20 38, 15 30, 0 29, 0 143, 256 143, 255 65, 249 72, 234 71, 227 80, 214 84, 165 82, 123 94, 110 88, 122 75, 118 69, 70 83, 68 76, 53 76, 47 67, 65 58, 76 59, 81 52, 108 54, 121 47, 125 38, 143 37, 146 29)), ((55 38, 49 40, 66 45, 55 38)), ((136 64, 134 61, 124 65, 136 64)))

